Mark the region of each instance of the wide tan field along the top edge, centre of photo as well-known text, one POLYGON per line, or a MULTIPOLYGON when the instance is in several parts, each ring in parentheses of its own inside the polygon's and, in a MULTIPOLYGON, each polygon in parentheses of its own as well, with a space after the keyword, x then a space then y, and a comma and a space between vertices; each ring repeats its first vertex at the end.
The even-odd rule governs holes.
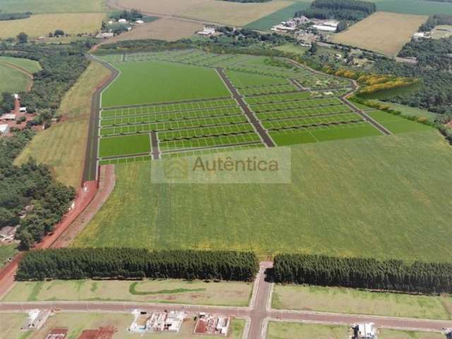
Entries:
POLYGON ((194 18, 233 26, 244 26, 292 4, 290 1, 239 4, 215 0, 119 0, 118 2, 120 6, 138 8, 149 13, 194 18))

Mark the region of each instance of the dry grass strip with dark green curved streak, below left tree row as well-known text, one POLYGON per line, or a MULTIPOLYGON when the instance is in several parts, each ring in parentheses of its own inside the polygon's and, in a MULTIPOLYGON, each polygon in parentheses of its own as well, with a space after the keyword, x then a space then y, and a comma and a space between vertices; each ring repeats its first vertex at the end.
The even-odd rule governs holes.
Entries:
MULTIPOLYGON (((1 249, 1 247, 0 247, 1 249)), ((4 301, 98 300, 245 307, 251 283, 185 280, 52 280, 18 282, 4 301)))

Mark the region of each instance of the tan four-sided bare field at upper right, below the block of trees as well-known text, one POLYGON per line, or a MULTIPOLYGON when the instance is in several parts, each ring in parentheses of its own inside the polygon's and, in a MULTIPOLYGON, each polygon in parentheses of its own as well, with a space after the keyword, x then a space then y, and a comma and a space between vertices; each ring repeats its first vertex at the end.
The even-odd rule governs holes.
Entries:
POLYGON ((427 16, 376 12, 333 37, 333 42, 397 55, 427 16))

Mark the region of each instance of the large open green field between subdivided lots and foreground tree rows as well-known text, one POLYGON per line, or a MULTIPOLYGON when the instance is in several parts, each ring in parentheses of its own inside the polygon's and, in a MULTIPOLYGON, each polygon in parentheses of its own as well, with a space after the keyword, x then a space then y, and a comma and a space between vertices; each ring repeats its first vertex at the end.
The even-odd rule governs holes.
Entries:
POLYGON ((291 149, 292 184, 151 184, 148 162, 117 165, 74 245, 449 260, 452 153, 437 131, 291 149))

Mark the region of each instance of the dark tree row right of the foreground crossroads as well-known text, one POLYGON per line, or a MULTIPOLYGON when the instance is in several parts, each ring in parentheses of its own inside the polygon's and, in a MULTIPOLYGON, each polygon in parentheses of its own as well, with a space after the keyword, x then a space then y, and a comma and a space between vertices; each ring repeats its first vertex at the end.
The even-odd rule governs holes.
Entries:
POLYGON ((369 290, 451 293, 452 264, 279 254, 274 260, 273 280, 369 290))

